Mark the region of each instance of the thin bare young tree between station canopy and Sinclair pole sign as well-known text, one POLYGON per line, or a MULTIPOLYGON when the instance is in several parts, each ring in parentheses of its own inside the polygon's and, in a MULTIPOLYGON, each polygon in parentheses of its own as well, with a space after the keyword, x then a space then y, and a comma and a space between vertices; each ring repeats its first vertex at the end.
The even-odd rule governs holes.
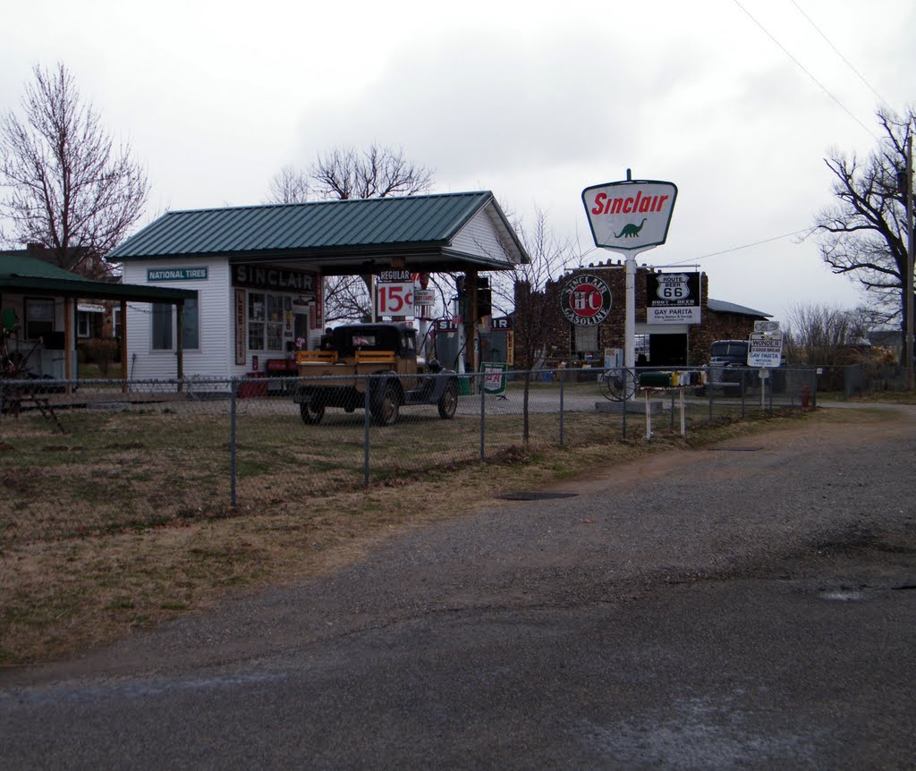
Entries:
POLYGON ((529 262, 496 273, 492 281, 493 302, 502 313, 511 312, 515 331, 516 367, 524 372, 522 440, 529 443, 529 393, 531 370, 543 357, 546 334, 556 318, 563 274, 581 255, 569 240, 551 230, 547 215, 537 210, 534 223, 526 228, 517 220, 515 229, 528 252, 529 262))

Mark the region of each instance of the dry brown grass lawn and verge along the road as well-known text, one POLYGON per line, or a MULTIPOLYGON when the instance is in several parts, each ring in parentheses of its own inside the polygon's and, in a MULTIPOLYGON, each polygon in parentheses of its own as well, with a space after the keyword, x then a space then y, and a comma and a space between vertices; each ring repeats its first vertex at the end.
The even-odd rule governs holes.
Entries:
MULTIPOLYGON (((381 471, 364 489, 362 444, 342 433, 344 418, 353 416, 311 427, 308 447, 291 451, 288 436, 277 438, 288 418, 240 418, 240 500, 246 485, 258 485, 259 495, 234 510, 226 505, 224 427, 213 416, 73 414, 64 436, 39 418, 20 418, 0 442, 0 664, 64 657, 232 592, 332 570, 400 527, 461 515, 507 490, 802 419, 839 419, 795 413, 697 427, 686 441, 661 432, 647 444, 638 420, 622 442, 616 427, 609 436, 594 418, 571 418, 575 440, 563 449, 538 440, 547 431, 540 428, 523 449, 516 419, 485 463, 474 460, 474 421, 419 419, 374 435, 381 471), (420 435, 422 452, 406 452, 420 435), (456 441, 472 450, 456 458, 456 441), (411 462, 413 454, 423 462, 411 462), (315 470, 307 478, 305 462, 315 470)), ((496 419, 492 429, 503 430, 496 419)))

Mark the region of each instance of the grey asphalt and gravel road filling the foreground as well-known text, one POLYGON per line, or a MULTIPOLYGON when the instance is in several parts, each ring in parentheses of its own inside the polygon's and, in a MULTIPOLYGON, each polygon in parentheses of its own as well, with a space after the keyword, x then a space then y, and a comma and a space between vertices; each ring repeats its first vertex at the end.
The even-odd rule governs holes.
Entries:
POLYGON ((11 768, 911 768, 916 412, 665 453, 0 675, 11 768))

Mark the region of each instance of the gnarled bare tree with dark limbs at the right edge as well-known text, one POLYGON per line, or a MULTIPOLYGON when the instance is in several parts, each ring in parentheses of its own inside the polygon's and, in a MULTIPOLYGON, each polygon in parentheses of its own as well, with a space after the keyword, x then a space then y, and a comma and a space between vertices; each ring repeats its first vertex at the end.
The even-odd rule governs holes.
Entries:
MULTIPOLYGON (((884 320, 906 324, 906 200, 901 182, 916 114, 878 111, 883 136, 864 159, 834 151, 824 159, 834 175, 834 204, 814 222, 823 261, 857 280, 884 320)), ((909 186, 911 190, 911 185, 909 186)))

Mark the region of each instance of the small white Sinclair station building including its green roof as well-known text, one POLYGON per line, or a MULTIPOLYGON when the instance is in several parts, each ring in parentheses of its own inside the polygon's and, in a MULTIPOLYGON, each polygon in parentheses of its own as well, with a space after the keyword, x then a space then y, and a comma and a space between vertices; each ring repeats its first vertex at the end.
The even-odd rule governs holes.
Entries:
MULTIPOLYGON (((489 191, 169 212, 106 257, 125 283, 197 291, 127 306, 132 378, 229 377, 316 348, 327 276, 505 270, 528 260, 489 191)), ((291 366, 290 366, 291 370, 291 366)))

